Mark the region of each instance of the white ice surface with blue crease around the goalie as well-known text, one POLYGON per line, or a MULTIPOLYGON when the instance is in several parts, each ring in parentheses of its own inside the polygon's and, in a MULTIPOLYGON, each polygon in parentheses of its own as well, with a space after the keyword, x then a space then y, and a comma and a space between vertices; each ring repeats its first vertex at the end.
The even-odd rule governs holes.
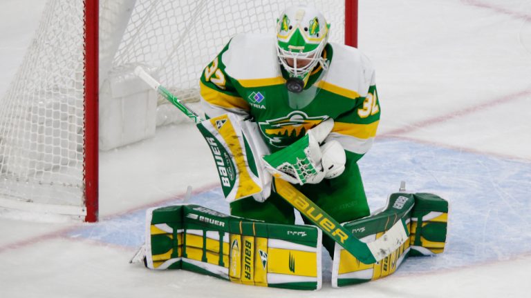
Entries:
MULTIPOLYGON (((0 95, 43 7, 0 2, 0 95)), ((100 223, 0 218, 0 297, 530 297, 531 1, 360 0, 359 43, 382 107, 380 137, 360 161, 371 208, 401 180, 445 197, 443 255, 359 286, 325 279, 317 292, 130 265, 147 206, 183 201, 192 186, 189 202, 227 212, 194 126, 167 126, 102 153, 100 223)))

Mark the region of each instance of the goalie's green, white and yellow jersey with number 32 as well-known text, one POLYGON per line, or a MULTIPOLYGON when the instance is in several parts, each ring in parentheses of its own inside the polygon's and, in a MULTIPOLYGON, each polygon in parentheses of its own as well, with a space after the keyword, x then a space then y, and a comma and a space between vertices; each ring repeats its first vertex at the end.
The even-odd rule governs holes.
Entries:
MULTIPOLYGON (((371 147, 380 119, 374 71, 359 50, 328 43, 328 70, 317 66, 304 95, 288 92, 288 74, 277 60, 274 37, 236 35, 201 76, 201 97, 208 117, 225 112, 250 116, 272 152, 289 146, 307 130, 333 118, 327 140, 344 146, 355 162, 371 147)), ((349 162, 347 161, 347 162, 349 162)))

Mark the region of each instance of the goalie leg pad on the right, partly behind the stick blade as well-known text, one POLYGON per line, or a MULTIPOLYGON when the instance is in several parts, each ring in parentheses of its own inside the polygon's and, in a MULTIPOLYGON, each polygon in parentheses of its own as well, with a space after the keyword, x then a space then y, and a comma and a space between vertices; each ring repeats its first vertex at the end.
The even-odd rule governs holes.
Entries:
POLYGON ((407 257, 435 255, 443 252, 447 232, 448 202, 429 193, 394 193, 386 208, 369 217, 344 224, 362 241, 381 237, 394 222, 402 219, 409 239, 382 261, 366 265, 335 244, 332 286, 348 286, 380 279, 395 272, 407 257))

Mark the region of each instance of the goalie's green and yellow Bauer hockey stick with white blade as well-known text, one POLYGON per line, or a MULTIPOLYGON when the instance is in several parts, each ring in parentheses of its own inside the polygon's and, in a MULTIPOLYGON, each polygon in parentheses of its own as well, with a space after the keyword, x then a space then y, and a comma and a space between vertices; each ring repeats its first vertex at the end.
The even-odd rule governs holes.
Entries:
MULTIPOLYGON (((175 95, 171 94, 164 88, 156 79, 153 79, 140 66, 135 69, 135 74, 145 81, 151 88, 156 90, 162 97, 165 97, 169 102, 173 103, 180 111, 185 113, 195 123, 200 123, 203 119, 193 110, 182 103, 175 95)), ((350 252, 354 257, 362 261, 364 264, 373 264, 380 261, 386 255, 399 248, 409 235, 404 219, 396 221, 393 226, 385 232, 382 237, 364 243, 354 237, 352 233, 344 228, 333 217, 330 217, 324 210, 319 208, 313 201, 308 199, 304 194, 299 192, 294 186, 282 179, 274 179, 274 187, 277 193, 295 209, 299 210, 301 214, 310 219, 316 226, 334 239, 345 250, 350 252)))

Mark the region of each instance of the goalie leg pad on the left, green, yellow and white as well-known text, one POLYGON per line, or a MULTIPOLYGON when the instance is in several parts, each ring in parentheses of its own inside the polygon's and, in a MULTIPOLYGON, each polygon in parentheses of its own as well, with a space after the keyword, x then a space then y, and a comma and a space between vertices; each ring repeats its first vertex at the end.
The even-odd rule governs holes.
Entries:
POLYGON ((148 210, 146 264, 185 269, 239 284, 317 290, 322 231, 266 224, 197 205, 148 210))

